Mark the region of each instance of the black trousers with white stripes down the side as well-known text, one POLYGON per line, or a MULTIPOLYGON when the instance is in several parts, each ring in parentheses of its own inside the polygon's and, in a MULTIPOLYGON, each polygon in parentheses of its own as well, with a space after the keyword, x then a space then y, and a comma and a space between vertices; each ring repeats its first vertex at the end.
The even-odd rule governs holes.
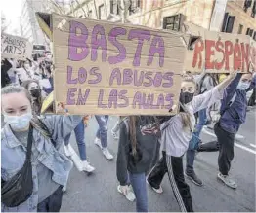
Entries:
POLYGON ((168 156, 165 152, 162 154, 163 157, 158 160, 149 173, 149 184, 153 188, 159 189, 165 173, 168 172, 169 180, 181 211, 193 212, 190 187, 184 178, 183 157, 168 156))

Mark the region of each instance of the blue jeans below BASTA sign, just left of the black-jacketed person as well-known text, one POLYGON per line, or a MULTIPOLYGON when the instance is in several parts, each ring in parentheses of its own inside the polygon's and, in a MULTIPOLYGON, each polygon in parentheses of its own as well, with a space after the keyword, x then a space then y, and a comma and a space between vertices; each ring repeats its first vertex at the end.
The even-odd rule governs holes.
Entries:
POLYGON ((96 137, 101 139, 103 148, 107 147, 107 121, 109 116, 95 116, 96 121, 99 124, 96 137))

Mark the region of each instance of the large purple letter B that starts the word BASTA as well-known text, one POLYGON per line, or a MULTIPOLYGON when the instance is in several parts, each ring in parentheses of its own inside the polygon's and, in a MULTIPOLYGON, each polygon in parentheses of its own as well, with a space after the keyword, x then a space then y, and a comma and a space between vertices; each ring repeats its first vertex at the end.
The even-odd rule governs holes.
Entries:
POLYGON ((80 61, 89 54, 89 46, 86 44, 88 39, 88 30, 86 26, 80 22, 71 20, 68 38, 68 59, 72 61, 80 61), (76 30, 81 30, 81 35, 76 35, 76 30), (78 53, 78 49, 82 50, 78 53))

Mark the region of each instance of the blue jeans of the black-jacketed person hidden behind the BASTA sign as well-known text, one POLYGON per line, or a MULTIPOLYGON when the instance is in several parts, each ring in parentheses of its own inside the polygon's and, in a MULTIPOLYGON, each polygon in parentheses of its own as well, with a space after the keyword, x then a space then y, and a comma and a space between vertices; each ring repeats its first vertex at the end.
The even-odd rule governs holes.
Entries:
POLYGON ((148 192, 146 186, 146 174, 132 174, 129 172, 129 179, 136 197, 137 212, 148 212, 148 192))

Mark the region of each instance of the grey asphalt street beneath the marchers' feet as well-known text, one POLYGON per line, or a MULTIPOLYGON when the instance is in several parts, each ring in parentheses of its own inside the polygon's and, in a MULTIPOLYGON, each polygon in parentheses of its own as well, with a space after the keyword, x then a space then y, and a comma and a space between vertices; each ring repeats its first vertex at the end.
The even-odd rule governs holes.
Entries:
MULTIPOLYGON (((198 187, 187 180, 191 187, 194 211, 255 212, 255 112, 254 109, 247 113, 246 123, 238 132, 244 138, 235 141, 235 158, 232 163, 231 175, 238 185, 236 190, 224 186, 216 178, 218 153, 200 153, 196 156, 195 171, 203 180, 204 185, 198 187)), ((128 201, 116 190, 118 184, 116 179, 118 141, 114 140, 110 133, 110 129, 116 121, 117 117, 110 117, 107 124, 108 148, 115 157, 114 160, 108 161, 100 149, 94 145, 98 124, 94 118, 90 120, 85 132, 86 149, 88 160, 96 167, 96 170, 88 176, 85 172, 78 172, 76 167, 72 169, 61 211, 135 211, 135 202, 128 201)), ((213 131, 205 128, 201 139, 203 142, 214 140, 213 131)), ((78 153, 74 135, 71 137, 71 145, 78 153)), ((164 190, 162 195, 157 195, 148 188, 149 211, 179 212, 180 209, 167 175, 164 177, 162 188, 164 190)))

